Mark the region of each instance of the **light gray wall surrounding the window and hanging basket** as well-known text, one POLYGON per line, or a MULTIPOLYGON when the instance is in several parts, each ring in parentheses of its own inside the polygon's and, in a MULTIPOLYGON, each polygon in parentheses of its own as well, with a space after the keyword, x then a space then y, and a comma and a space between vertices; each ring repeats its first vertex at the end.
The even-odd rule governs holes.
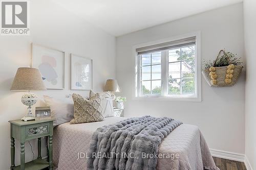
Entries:
POLYGON ((243 4, 236 4, 117 37, 116 77, 126 96, 125 116, 169 116, 199 126, 211 149, 244 154, 245 76, 233 87, 212 88, 202 78, 202 102, 134 100, 132 47, 201 31, 201 58, 214 60, 220 49, 244 59, 243 4))

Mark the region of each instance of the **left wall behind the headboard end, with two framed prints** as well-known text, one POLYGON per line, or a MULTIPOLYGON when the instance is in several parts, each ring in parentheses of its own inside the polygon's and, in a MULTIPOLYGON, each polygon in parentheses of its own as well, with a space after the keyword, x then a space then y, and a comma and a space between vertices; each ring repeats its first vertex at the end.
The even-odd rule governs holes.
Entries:
MULTIPOLYGON (((44 106, 42 95, 48 94, 65 98, 73 92, 88 95, 88 91, 69 90, 69 53, 93 59, 93 87, 102 91, 109 78, 115 78, 115 37, 105 33, 59 7, 52 1, 30 2, 30 36, 0 37, 0 169, 10 168, 10 125, 8 120, 22 118, 27 107, 20 97, 24 92, 9 91, 18 67, 30 65, 31 42, 56 48, 66 52, 65 90, 46 90, 35 92, 40 101, 36 106, 44 106)), ((34 107, 33 107, 34 109, 34 107)), ((34 114, 34 110, 33 110, 34 114)), ((36 153, 36 140, 32 141, 36 153)), ((16 141, 16 164, 19 164, 19 141, 16 141)), ((32 159, 29 144, 25 147, 26 160, 32 159)), ((46 148, 42 150, 46 156, 46 148)))

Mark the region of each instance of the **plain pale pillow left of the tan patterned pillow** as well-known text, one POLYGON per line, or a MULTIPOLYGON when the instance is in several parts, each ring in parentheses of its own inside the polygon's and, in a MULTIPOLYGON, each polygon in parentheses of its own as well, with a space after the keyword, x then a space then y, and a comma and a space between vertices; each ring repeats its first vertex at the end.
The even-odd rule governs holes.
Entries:
POLYGON ((71 99, 55 99, 44 95, 47 106, 51 108, 51 117, 54 118, 53 126, 70 122, 74 118, 74 103, 71 99))

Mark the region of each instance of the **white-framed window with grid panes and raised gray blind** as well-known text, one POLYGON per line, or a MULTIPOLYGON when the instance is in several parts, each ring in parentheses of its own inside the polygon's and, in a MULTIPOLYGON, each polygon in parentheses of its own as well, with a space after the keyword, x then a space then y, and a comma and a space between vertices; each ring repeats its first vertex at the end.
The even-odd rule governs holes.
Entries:
POLYGON ((200 101, 197 41, 193 36, 136 48, 136 96, 200 101))

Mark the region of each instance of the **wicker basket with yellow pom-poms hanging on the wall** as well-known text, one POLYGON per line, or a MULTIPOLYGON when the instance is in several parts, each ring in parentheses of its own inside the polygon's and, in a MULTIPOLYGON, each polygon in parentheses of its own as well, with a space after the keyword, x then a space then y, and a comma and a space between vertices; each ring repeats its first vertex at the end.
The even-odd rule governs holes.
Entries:
MULTIPOLYGON (((221 52, 223 52, 224 55, 226 55, 225 51, 221 50, 219 52, 218 57, 220 56, 221 52)), ((218 60, 218 57, 215 60, 215 62, 218 60)), ((204 79, 209 84, 209 86, 225 87, 233 86, 234 84, 236 84, 241 74, 243 66, 230 64, 228 66, 215 67, 215 62, 213 67, 204 69, 202 71, 204 79)))

